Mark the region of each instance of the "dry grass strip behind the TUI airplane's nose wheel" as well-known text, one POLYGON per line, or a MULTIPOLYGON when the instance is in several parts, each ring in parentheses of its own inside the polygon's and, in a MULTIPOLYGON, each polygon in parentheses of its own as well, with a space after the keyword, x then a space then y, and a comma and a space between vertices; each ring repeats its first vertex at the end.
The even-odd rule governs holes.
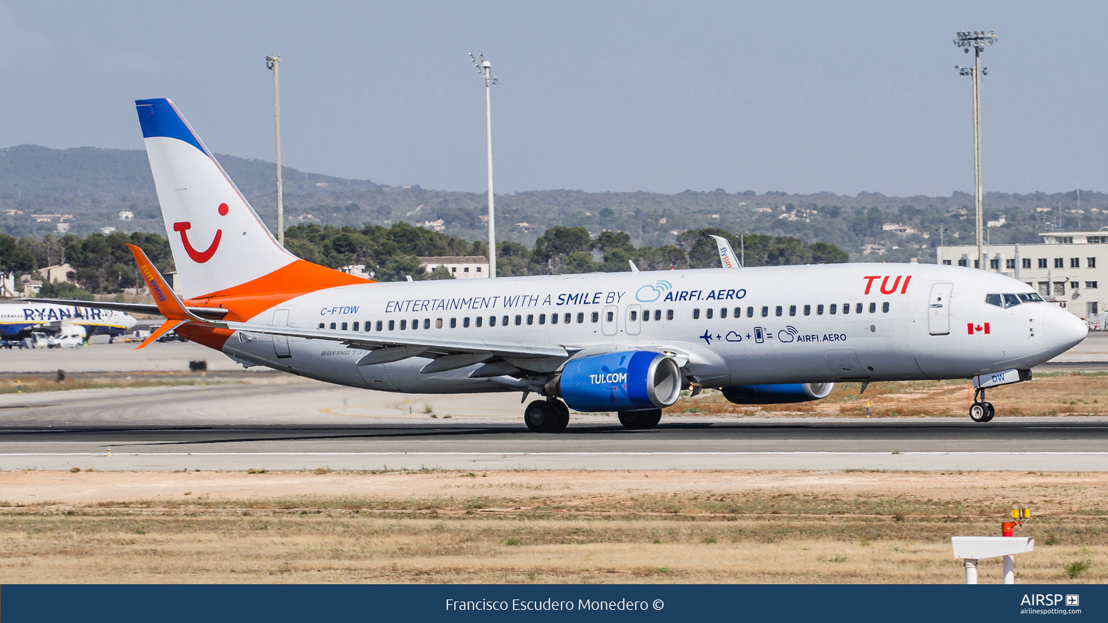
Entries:
MULTIPOLYGON (((1009 416, 1108 416, 1108 372, 1037 374, 1029 382, 987 390, 997 411, 1009 416)), ((871 384, 860 395, 861 384, 835 384, 831 395, 819 401, 797 405, 732 405, 716 390, 686 398, 666 410, 666 415, 701 413, 733 416, 870 416, 948 417, 964 416, 966 381, 896 381, 871 384)))

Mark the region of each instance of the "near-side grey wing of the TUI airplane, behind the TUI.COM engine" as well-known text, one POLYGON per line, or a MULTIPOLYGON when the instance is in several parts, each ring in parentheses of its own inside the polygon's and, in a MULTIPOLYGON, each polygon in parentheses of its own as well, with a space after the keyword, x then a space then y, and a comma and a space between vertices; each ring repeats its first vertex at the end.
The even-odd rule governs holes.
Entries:
MULTIPOLYGON (((338 341, 353 348, 372 349, 367 357, 367 364, 386 364, 399 361, 408 357, 448 356, 448 355, 489 355, 491 357, 509 357, 530 359, 538 357, 568 357, 578 349, 560 345, 527 345, 513 341, 485 341, 470 339, 441 339, 434 337, 401 337, 378 333, 328 331, 322 329, 298 329, 257 325, 254 323, 208 323, 217 327, 238 330, 246 334, 263 334, 305 339, 322 339, 338 341)), ((474 361, 476 362, 476 361, 474 361)))

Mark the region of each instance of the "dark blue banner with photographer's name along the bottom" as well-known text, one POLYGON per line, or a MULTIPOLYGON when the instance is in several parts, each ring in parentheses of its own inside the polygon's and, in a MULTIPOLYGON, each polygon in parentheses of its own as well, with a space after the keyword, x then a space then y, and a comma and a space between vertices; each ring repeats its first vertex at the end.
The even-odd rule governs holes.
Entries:
POLYGON ((1105 621, 1102 585, 4 585, 3 623, 1105 621), (1040 620, 1040 619, 1038 619, 1040 620))

